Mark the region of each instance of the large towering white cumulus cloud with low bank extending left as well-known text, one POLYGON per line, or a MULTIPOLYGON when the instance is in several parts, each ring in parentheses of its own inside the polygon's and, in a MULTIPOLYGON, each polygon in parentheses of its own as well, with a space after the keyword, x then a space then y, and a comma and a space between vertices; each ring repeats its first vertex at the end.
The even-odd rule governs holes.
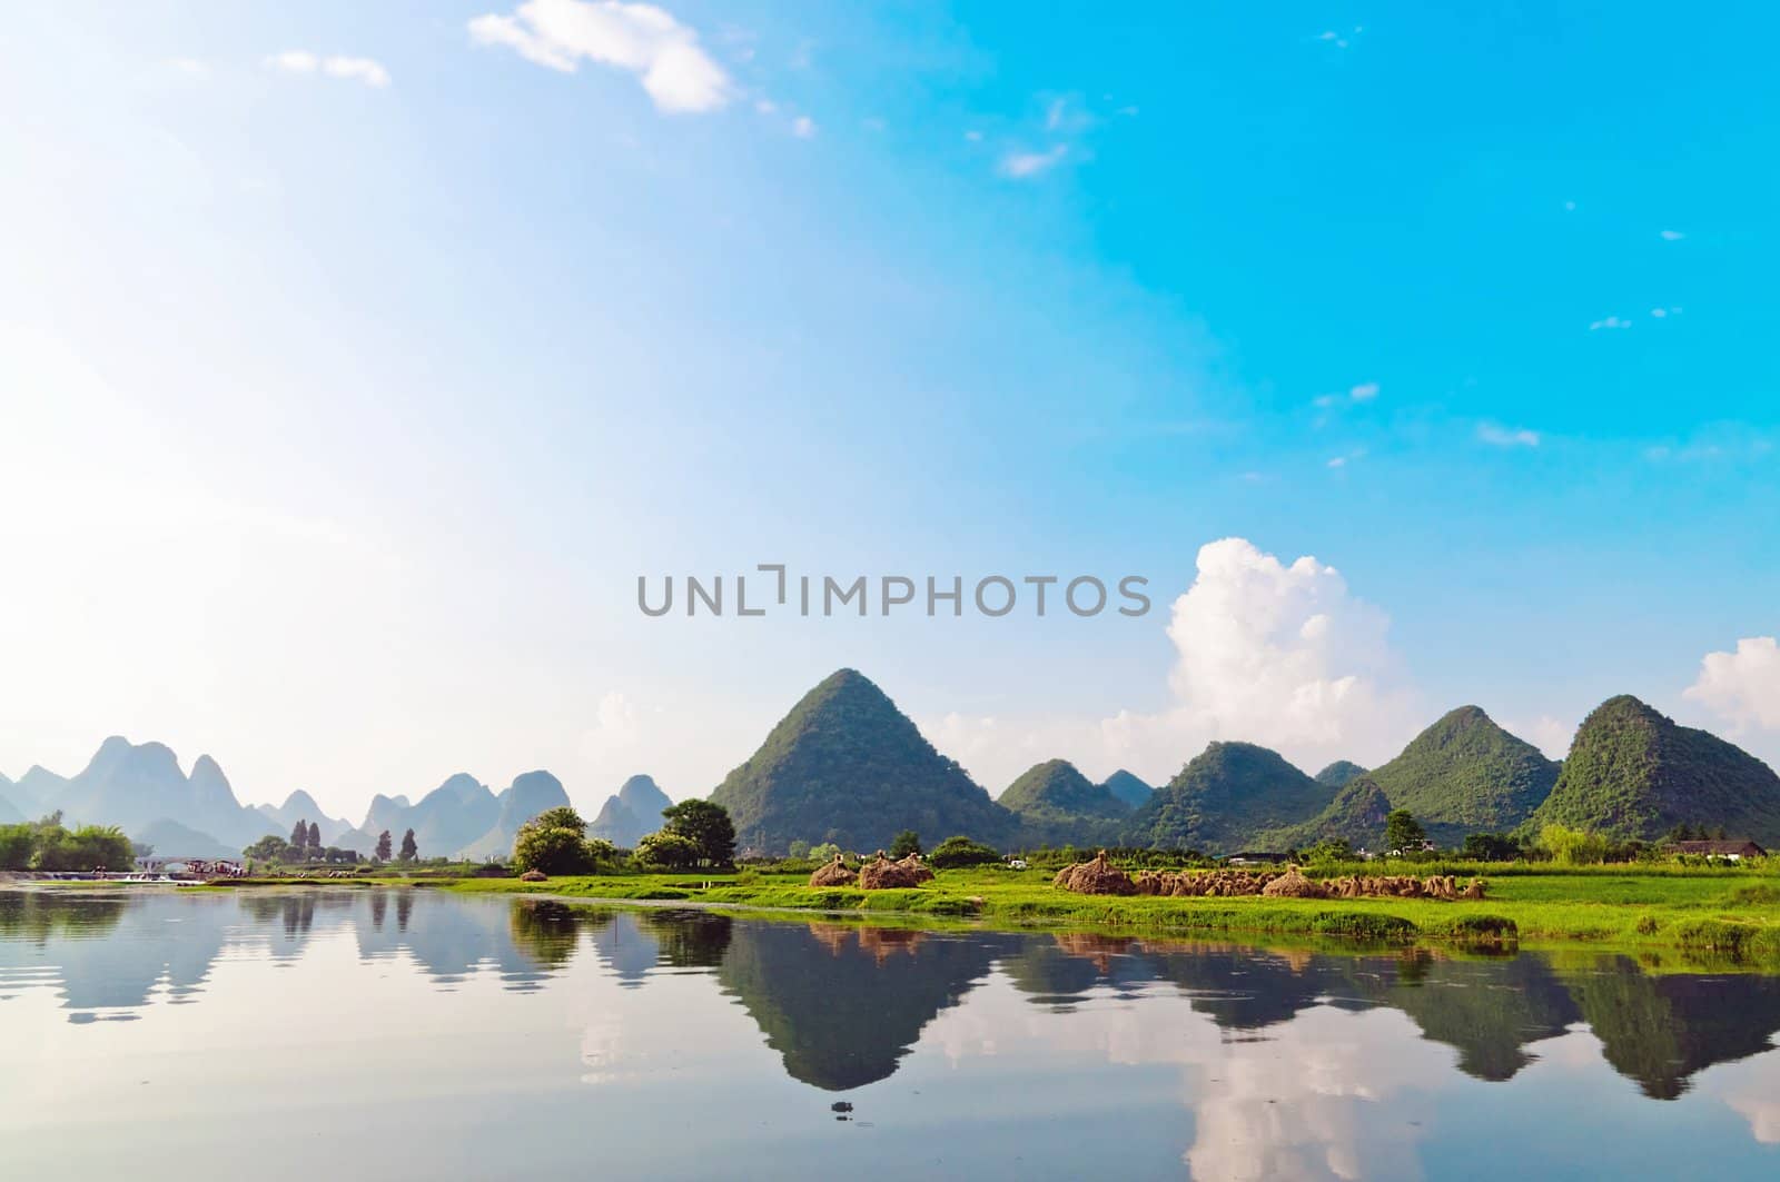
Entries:
POLYGON ((1315 771, 1378 764, 1415 732, 1419 701, 1388 641, 1390 619, 1314 557, 1282 563, 1242 538, 1200 546, 1171 611, 1169 703, 1104 719, 949 714, 927 737, 991 790, 1043 758, 1093 776, 1116 767, 1166 780, 1214 739, 1278 749, 1315 771))

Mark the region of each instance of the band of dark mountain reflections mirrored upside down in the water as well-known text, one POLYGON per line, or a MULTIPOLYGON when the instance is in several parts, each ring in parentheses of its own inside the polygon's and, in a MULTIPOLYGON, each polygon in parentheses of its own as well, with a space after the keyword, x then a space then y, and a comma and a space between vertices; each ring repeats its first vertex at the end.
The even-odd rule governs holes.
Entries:
POLYGON ((1652 974, 1623 956, 959 935, 358 888, 5 890, 0 1002, 53 990, 73 1022, 126 1020, 203 1000, 219 963, 288 968, 322 940, 360 963, 404 963, 443 992, 486 976, 541 993, 578 963, 630 990, 701 977, 790 1079, 824 1091, 894 1075, 940 1015, 991 979, 1059 1015, 1184 999, 1230 1043, 1276 1040, 1312 1009, 1397 1011, 1479 1081, 1515 1079, 1538 1043, 1586 1024, 1600 1057, 1655 1100, 1680 1097, 1712 1065, 1769 1050, 1780 1031, 1780 977, 1652 974))

